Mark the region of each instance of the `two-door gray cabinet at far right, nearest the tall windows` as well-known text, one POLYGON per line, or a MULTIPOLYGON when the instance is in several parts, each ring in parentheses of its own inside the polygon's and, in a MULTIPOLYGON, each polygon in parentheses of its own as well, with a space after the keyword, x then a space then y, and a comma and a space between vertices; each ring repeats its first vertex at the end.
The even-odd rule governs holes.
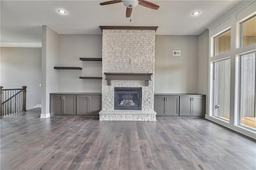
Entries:
POLYGON ((180 116, 204 116, 205 96, 180 96, 180 116))

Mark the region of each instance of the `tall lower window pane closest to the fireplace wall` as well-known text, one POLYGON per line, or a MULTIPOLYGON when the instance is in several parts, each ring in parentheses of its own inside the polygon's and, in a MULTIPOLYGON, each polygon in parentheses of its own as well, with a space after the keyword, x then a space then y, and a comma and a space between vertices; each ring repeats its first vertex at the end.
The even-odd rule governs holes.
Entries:
POLYGON ((230 59, 214 62, 213 115, 229 120, 230 59))

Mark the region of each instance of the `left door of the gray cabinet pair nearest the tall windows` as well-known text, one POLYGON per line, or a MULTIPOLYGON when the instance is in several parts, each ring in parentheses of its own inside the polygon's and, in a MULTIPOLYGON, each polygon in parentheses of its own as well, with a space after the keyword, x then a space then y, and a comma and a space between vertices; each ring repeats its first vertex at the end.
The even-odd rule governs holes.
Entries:
POLYGON ((193 96, 180 96, 180 116, 192 116, 193 96))

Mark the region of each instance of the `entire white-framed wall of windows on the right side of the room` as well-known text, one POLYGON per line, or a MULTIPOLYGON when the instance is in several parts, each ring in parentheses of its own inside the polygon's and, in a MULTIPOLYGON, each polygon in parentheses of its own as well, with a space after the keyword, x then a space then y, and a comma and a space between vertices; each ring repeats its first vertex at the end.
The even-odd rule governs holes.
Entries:
POLYGON ((209 26, 210 89, 205 117, 255 138, 256 2, 244 3, 209 26))

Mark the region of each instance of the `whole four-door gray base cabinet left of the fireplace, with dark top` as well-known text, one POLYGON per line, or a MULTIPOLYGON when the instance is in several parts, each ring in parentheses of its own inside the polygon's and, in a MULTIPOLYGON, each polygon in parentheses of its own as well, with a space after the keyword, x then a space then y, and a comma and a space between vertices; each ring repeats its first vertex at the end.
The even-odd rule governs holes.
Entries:
POLYGON ((98 115, 101 93, 50 93, 50 113, 54 115, 98 115))

